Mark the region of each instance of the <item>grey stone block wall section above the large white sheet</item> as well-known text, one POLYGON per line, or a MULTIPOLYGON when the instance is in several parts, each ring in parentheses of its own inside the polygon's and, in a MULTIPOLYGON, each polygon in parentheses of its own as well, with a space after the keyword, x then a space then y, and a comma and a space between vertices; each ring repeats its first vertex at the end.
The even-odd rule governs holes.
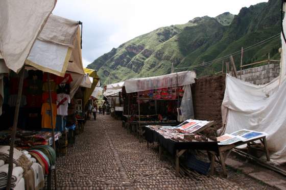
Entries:
MULTIPOLYGON (((269 68, 268 65, 264 65, 242 70, 241 79, 255 85, 264 85, 279 76, 279 72, 279 64, 270 64, 269 68)), ((238 74, 240 75, 240 71, 238 74)))

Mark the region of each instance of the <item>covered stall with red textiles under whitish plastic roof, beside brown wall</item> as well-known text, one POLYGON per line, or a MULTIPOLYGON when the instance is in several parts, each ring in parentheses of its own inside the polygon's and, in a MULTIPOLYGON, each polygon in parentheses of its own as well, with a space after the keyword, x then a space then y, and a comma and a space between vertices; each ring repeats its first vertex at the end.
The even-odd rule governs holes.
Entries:
POLYGON ((144 125, 177 125, 194 118, 190 85, 194 71, 125 80, 123 125, 142 136, 144 125))

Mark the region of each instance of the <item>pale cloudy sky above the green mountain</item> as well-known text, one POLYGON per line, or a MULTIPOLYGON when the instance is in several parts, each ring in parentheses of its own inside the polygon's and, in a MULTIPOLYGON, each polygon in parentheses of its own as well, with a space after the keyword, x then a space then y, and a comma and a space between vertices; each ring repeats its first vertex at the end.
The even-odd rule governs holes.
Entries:
POLYGON ((83 22, 83 62, 91 63, 113 47, 161 26, 195 17, 238 14, 264 0, 58 0, 53 14, 83 22))

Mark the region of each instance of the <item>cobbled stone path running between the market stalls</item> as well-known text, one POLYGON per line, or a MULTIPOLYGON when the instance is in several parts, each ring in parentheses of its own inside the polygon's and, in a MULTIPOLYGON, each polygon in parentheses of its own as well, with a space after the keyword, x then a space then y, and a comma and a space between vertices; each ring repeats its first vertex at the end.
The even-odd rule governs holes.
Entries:
MULTIPOLYGON (((57 159, 58 189, 266 189, 251 181, 201 175, 176 177, 168 160, 139 143, 121 127, 121 121, 98 115, 87 121, 84 132, 68 154, 57 159)), ((243 179, 243 178, 242 178, 243 179)), ((248 179, 249 180, 249 179, 248 179)), ((268 188, 267 188, 268 189, 268 188)))

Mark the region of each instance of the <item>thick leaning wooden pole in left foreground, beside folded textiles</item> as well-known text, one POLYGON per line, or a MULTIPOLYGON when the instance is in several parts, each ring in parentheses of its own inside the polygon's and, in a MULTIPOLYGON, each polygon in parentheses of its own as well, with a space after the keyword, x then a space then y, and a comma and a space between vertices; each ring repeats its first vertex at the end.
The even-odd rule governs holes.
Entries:
POLYGON ((11 144, 9 149, 9 168, 8 168, 8 182, 7 182, 7 190, 11 188, 11 180, 12 180, 12 172, 13 172, 13 154, 14 154, 14 144, 17 132, 17 124, 18 124, 18 117, 19 117, 19 110, 21 104, 21 97, 22 97, 22 88, 23 88, 23 80, 25 74, 25 66, 22 67, 19 73, 19 85, 18 85, 18 94, 17 94, 17 101, 14 113, 14 121, 11 133, 11 144))

